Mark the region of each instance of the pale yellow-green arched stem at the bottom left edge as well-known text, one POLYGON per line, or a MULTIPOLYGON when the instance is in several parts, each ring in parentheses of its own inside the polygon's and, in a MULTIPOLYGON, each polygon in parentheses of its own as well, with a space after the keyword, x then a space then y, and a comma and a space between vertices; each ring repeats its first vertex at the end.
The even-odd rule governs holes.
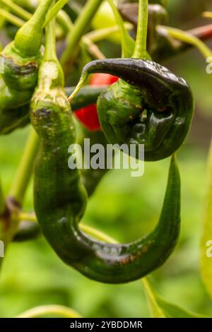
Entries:
POLYGON ((58 315, 66 318, 82 318, 75 310, 62 305, 43 305, 35 307, 16 316, 16 318, 35 318, 46 315, 58 315))

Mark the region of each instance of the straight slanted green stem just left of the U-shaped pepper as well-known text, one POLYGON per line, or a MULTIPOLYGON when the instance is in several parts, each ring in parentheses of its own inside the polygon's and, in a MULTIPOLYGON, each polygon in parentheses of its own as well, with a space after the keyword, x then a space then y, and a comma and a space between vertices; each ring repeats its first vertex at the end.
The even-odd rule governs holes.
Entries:
POLYGON ((16 172, 15 179, 11 186, 9 196, 13 197, 20 206, 23 204, 25 191, 30 182, 30 177, 33 170, 35 155, 39 146, 38 136, 33 129, 30 131, 28 141, 23 152, 23 157, 16 172))

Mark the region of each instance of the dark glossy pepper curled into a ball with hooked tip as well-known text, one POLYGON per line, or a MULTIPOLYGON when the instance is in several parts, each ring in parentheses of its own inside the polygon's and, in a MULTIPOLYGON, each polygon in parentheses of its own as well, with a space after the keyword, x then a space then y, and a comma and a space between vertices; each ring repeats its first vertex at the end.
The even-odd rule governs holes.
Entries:
POLYGON ((120 78, 98 98, 100 124, 110 143, 144 144, 146 161, 167 158, 182 145, 194 111, 192 90, 183 78, 153 61, 105 59, 84 67, 80 85, 98 72, 120 78))

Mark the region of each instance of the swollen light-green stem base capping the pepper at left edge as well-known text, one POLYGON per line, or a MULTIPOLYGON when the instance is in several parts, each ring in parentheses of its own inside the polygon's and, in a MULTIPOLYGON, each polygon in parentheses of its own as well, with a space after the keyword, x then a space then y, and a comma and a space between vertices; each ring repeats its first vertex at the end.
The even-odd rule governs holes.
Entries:
POLYGON ((35 57, 40 52, 45 17, 53 0, 42 0, 32 18, 16 33, 15 47, 22 57, 35 57))

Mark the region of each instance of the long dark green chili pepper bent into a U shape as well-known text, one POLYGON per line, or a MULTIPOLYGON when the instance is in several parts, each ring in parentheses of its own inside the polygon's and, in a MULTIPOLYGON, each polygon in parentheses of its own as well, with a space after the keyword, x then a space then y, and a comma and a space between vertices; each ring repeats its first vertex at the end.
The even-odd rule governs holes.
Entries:
MULTIPOLYGON (((150 235, 129 244, 106 244, 81 232, 78 223, 87 195, 80 172, 67 167, 68 147, 76 142, 76 137, 59 64, 47 51, 51 35, 49 27, 47 54, 31 103, 31 121, 40 137, 34 183, 37 220, 58 256, 88 278, 104 283, 136 280, 162 265, 177 242, 180 180, 175 158, 170 163, 160 220, 150 235)), ((73 153, 71 156, 76 157, 73 153)))

